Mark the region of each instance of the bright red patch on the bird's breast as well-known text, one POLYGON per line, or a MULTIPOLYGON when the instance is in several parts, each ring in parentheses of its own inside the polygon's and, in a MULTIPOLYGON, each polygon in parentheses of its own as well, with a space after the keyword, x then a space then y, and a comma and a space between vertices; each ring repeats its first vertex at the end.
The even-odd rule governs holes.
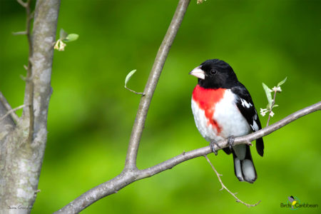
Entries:
POLYGON ((208 118, 208 126, 212 124, 216 128, 217 133, 220 133, 218 122, 213 119, 215 105, 223 98, 225 88, 203 88, 197 85, 193 91, 193 100, 198 103, 198 107, 203 109, 205 117, 208 118))

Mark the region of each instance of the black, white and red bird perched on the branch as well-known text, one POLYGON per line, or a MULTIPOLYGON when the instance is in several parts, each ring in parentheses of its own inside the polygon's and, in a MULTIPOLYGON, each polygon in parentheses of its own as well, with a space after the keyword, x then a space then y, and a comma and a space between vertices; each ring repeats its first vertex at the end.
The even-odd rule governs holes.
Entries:
MULTIPOLYGON (((198 78, 192 93, 192 111, 201 136, 214 145, 228 139, 223 151, 233 154, 234 173, 238 180, 253 183, 257 173, 248 144, 233 145, 234 138, 260 130, 258 112, 248 89, 238 81, 233 68, 218 58, 204 61, 190 71, 198 78)), ((256 140, 256 150, 264 154, 263 138, 256 140)))

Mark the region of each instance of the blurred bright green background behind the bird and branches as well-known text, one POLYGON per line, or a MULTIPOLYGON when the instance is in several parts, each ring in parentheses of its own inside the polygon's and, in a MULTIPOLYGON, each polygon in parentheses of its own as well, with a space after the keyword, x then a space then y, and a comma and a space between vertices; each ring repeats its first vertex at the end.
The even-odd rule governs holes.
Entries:
MULTIPOLYGON (((24 30, 25 13, 16 1, 0 2, 0 90, 16 107, 23 102, 20 76, 26 75, 28 48, 25 36, 11 33, 24 30)), ((143 91, 177 2, 61 1, 58 31, 79 39, 54 54, 41 192, 31 213, 52 213, 121 173, 140 100, 123 88, 124 79, 137 69, 128 87, 143 91)), ((230 63, 258 110, 267 104, 262 82, 272 87, 287 76, 272 123, 320 101, 320 9, 321 1, 311 0, 192 0, 151 103, 138 168, 208 145, 194 125, 190 97, 196 79, 188 75, 208 58, 230 63)), ((264 158, 253 148, 254 184, 235 178, 232 156, 210 155, 241 200, 262 200, 255 208, 220 191, 205 158, 195 158, 132 183, 82 213, 290 213, 280 208, 290 195, 321 206, 320 120, 320 112, 312 113, 266 136, 264 158)))

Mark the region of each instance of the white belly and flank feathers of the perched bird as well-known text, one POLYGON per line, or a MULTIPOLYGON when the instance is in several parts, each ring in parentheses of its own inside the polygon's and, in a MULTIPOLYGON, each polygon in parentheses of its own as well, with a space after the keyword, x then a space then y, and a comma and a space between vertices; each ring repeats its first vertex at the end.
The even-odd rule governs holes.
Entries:
POLYGON ((192 111, 195 125, 206 141, 220 141, 230 136, 244 136, 250 133, 248 121, 243 117, 235 104, 234 94, 228 89, 223 98, 213 106, 213 119, 218 123, 219 130, 205 117, 205 111, 198 107, 192 98, 192 111))

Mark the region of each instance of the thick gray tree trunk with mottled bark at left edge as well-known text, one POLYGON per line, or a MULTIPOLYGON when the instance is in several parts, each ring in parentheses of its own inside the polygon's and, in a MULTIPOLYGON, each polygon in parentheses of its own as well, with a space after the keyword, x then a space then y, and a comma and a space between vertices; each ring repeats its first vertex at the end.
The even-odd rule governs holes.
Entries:
MULTIPOLYGON (((17 123, 12 116, 0 121, 0 213, 30 213, 36 200, 46 147, 59 6, 60 0, 36 1, 32 56, 29 56, 31 76, 26 80, 24 98, 26 107, 17 123), (30 97, 33 105, 29 103, 30 97), (33 111, 29 111, 31 106, 33 111)), ((8 111, 5 106, 1 100, 0 117, 8 111)))

